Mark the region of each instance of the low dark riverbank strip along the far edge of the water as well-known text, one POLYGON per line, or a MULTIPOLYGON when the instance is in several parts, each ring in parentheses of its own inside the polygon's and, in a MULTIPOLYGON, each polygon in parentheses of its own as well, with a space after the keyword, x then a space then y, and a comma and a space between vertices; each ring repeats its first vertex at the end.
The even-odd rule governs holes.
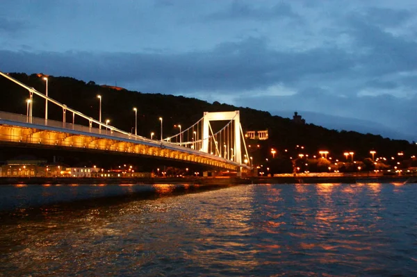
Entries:
POLYGON ((1 177, 0 185, 44 184, 294 184, 294 183, 417 183, 417 176, 285 176, 285 177, 188 177, 188 178, 54 178, 54 177, 1 177))

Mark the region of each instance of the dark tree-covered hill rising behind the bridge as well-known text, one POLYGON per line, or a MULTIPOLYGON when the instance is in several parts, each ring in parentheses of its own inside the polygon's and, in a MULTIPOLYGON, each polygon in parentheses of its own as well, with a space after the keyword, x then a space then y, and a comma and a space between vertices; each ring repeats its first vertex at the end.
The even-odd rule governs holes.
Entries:
MULTIPOLYGON (((45 83, 38 74, 10 74, 26 85, 44 92, 45 83)), ((28 92, 15 83, 0 78, 0 110, 26 115, 28 92)), ((111 119, 111 124, 122 130, 131 132, 135 124, 133 107, 138 108, 138 135, 149 137, 152 131, 158 132, 159 117, 163 117, 163 133, 173 135, 178 129, 174 124, 190 126, 200 119, 203 112, 240 110, 243 130, 265 130, 268 128, 270 139, 256 142, 261 144, 253 153, 254 160, 270 157, 270 149, 278 153, 297 155, 304 146, 304 153, 318 155, 319 150, 327 150, 334 158, 343 159, 344 151, 354 151, 355 158, 369 158, 370 149, 375 149, 378 156, 414 155, 417 146, 407 140, 391 140, 381 135, 361 134, 355 131, 329 130, 314 124, 296 124, 291 119, 270 115, 269 112, 252 108, 235 107, 225 103, 208 103, 199 99, 165 94, 145 94, 132 92, 120 87, 97 85, 90 81, 85 83, 69 77, 49 76, 49 96, 65 103, 85 115, 98 119, 99 100, 102 96, 102 119, 111 119), (255 158, 256 157, 256 158, 255 158)), ((44 101, 33 99, 33 116, 44 116, 44 101)), ((68 118, 68 116, 67 116, 68 118)), ((49 104, 49 119, 62 120, 62 110, 49 104)), ((85 124, 76 119, 76 124, 85 124)))

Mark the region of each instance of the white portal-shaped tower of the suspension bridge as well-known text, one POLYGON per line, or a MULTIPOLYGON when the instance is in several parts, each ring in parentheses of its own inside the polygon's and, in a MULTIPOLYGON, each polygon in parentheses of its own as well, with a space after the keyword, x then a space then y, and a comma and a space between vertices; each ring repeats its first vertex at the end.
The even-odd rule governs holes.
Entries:
POLYGON ((238 110, 234 112, 204 112, 203 117, 203 149, 202 151, 208 153, 208 126, 210 121, 222 121, 233 120, 234 121, 234 157, 236 162, 242 164, 242 150, 240 147, 240 114, 238 110))

